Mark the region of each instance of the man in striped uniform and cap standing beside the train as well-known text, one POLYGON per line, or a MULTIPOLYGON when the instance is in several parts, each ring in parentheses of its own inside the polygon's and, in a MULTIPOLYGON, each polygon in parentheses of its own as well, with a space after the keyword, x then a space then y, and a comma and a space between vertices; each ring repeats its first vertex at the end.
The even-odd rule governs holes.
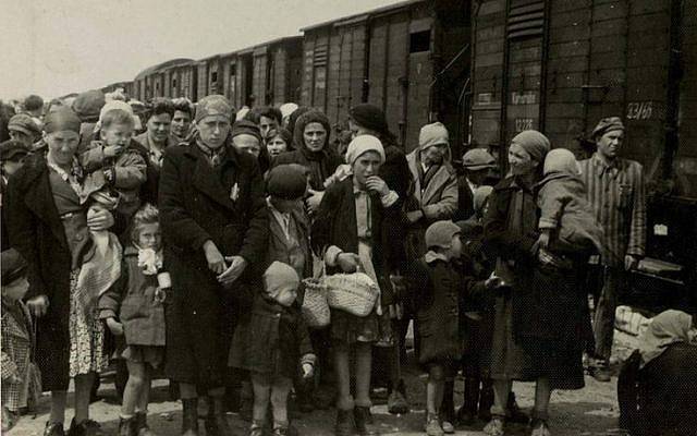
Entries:
POLYGON ((580 162, 588 202, 604 231, 600 254, 603 280, 594 318, 599 362, 592 375, 599 382, 610 382, 608 363, 617 298, 626 286, 626 272, 636 268, 646 246, 646 193, 641 165, 617 156, 624 141, 622 120, 600 120, 592 138, 597 152, 580 162))

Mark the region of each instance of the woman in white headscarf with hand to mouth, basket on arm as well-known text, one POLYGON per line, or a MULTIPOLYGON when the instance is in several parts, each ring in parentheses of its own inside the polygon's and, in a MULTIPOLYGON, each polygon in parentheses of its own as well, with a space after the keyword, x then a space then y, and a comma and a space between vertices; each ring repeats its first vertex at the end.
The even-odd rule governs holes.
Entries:
MULTIPOLYGON (((313 227, 313 244, 325 253, 328 271, 353 272, 358 266, 389 300, 391 271, 386 227, 400 217, 398 194, 377 174, 384 149, 371 135, 354 138, 346 152, 353 175, 329 186, 313 227)), ((350 435, 352 423, 359 434, 376 434, 370 427, 371 348, 379 338, 378 314, 357 317, 333 310, 331 338, 339 397, 337 435, 350 435), (350 353, 355 352, 355 401, 351 395, 350 353)))

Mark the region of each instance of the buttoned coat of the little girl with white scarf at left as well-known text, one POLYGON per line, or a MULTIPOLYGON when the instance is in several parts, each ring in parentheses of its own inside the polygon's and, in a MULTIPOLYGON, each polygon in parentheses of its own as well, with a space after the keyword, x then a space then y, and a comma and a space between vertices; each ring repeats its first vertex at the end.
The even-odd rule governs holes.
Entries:
POLYGON ((121 278, 99 298, 99 317, 123 324, 126 346, 164 347, 164 307, 155 300, 157 275, 146 276, 138 267, 138 250, 124 251, 121 278))

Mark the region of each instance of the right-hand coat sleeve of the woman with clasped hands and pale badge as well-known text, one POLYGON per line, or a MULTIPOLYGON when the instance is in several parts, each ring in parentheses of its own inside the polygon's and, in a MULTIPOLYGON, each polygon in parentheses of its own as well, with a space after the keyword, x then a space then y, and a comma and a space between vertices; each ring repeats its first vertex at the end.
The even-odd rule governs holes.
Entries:
POLYGON ((264 196, 264 178, 258 165, 253 166, 250 174, 249 222, 244 235, 240 255, 247 263, 262 259, 268 250, 269 214, 264 196))

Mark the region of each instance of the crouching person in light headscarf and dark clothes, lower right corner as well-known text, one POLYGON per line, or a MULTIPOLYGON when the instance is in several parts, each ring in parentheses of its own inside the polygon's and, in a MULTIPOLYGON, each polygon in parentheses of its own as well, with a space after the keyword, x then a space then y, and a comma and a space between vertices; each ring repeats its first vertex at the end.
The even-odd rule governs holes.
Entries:
POLYGON ((694 435, 697 428, 695 317, 657 315, 617 379, 620 427, 632 435, 694 435))

